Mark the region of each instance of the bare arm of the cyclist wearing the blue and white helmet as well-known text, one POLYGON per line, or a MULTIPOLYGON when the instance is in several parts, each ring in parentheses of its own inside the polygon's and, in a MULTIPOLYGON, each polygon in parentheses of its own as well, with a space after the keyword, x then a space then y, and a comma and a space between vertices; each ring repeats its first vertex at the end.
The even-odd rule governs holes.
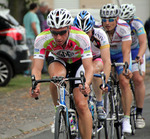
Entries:
POLYGON ((106 75, 106 83, 110 75, 111 70, 111 60, 110 60, 110 48, 101 49, 101 58, 103 60, 104 66, 103 71, 106 75))

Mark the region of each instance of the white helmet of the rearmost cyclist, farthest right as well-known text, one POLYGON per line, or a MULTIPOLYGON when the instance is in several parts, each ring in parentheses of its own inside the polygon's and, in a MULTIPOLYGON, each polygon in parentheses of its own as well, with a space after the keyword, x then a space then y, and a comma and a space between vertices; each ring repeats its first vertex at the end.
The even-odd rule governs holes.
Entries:
POLYGON ((136 7, 133 4, 122 4, 119 17, 124 20, 130 20, 135 16, 136 7))

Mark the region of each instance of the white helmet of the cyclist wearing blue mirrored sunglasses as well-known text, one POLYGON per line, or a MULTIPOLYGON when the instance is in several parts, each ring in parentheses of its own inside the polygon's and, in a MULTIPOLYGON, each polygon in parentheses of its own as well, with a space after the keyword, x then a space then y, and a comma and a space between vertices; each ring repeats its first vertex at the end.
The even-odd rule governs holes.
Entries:
POLYGON ((101 18, 110 18, 119 16, 120 9, 117 5, 114 4, 106 4, 100 9, 100 17, 101 18))

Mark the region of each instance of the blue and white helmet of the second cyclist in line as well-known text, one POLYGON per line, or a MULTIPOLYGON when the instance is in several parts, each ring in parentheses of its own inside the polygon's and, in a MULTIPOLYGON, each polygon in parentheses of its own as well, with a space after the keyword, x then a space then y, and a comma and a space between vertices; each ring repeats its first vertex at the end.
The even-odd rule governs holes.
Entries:
POLYGON ((83 10, 75 17, 73 24, 84 32, 88 32, 95 25, 95 19, 88 11, 83 10))

